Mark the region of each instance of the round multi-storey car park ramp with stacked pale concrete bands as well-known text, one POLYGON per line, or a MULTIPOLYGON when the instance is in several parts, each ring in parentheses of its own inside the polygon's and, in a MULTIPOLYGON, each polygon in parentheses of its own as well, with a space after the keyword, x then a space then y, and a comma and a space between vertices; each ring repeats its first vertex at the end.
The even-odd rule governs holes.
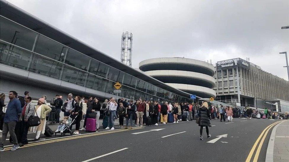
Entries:
POLYGON ((214 66, 189 58, 152 58, 139 63, 139 69, 176 89, 201 98, 216 97, 214 66))

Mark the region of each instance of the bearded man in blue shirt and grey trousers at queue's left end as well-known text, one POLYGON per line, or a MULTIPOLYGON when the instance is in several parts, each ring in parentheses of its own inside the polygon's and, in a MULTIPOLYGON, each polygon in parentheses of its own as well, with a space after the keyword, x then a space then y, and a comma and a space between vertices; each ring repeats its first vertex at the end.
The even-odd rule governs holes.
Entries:
POLYGON ((15 91, 9 92, 9 99, 10 101, 8 103, 4 117, 3 132, 0 141, 0 151, 4 151, 3 142, 6 140, 8 131, 14 143, 14 146, 10 150, 14 151, 19 148, 17 137, 15 134, 15 126, 16 123, 18 122, 18 114, 21 113, 22 111, 21 103, 17 99, 17 92, 15 91))

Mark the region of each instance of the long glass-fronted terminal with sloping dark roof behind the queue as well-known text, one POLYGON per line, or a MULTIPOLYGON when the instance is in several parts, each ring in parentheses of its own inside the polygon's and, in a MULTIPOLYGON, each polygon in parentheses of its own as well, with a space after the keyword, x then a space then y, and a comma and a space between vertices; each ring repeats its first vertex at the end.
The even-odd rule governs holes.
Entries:
MULTIPOLYGON (((147 76, 81 42, 7 1, 0 1, 0 92, 39 98, 55 94, 119 97, 168 102, 190 101, 190 94, 147 76)), ((210 71, 210 73, 212 73, 210 71)), ((7 97, 8 98, 8 97, 7 97)))

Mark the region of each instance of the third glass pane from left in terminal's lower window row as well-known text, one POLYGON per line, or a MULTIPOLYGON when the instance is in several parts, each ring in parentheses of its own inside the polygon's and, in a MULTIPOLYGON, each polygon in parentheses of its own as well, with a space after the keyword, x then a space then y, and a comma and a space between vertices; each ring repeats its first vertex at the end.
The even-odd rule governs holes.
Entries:
POLYGON ((76 68, 65 66, 61 80, 68 83, 84 86, 87 74, 88 73, 77 70, 76 68))

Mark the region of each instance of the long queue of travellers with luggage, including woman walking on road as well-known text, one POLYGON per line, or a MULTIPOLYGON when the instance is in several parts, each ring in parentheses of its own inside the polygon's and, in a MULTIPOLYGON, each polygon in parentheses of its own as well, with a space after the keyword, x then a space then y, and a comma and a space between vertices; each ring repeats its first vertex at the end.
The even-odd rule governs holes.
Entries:
MULTIPOLYGON (((279 114, 271 112, 271 110, 265 109, 259 111, 258 109, 251 109, 246 107, 240 109, 238 107, 229 107, 220 105, 208 104, 207 102, 196 103, 168 103, 143 100, 139 98, 137 101, 126 100, 123 98, 118 99, 111 97, 105 99, 100 104, 99 98, 89 96, 87 99, 84 96, 75 96, 68 94, 67 99, 63 100, 63 97, 56 95, 50 101, 50 105, 47 103, 47 96, 43 95, 38 99, 37 105, 34 105, 31 101, 32 98, 29 95, 29 91, 24 92, 24 96, 18 96, 17 92, 9 92, 9 103, 7 110, 3 113, 5 94, 1 94, 1 131, 2 138, 0 142, 0 150, 4 150, 3 142, 6 140, 7 133, 9 132, 14 145, 11 150, 28 144, 27 134, 28 130, 36 133, 33 141, 38 141, 41 134, 44 134, 46 128, 46 116, 52 111, 55 112, 55 122, 60 123, 55 132, 63 132, 67 125, 70 125, 72 121, 76 125, 73 134, 79 134, 79 131, 86 130, 86 124, 89 118, 96 119, 95 130, 99 130, 99 118, 107 120, 107 126, 105 129, 114 130, 115 119, 119 118, 119 127, 132 129, 135 127, 145 125, 158 125, 158 123, 166 124, 167 122, 178 123, 179 121, 191 121, 197 120, 200 126, 200 140, 203 140, 202 132, 203 127, 206 128, 207 137, 210 138, 208 127, 210 127, 210 120, 219 119, 220 122, 232 122, 233 118, 245 117, 251 119, 253 115, 268 119, 279 119, 279 114), (64 118, 60 120, 60 112, 64 113, 64 118), (30 126, 30 117, 38 117, 39 123, 34 126, 30 126), (105 118, 107 117, 107 118, 105 118), (126 124, 124 126, 124 119, 126 124), (81 120, 84 122, 81 127, 81 120), (20 133, 15 134, 15 129, 20 129, 20 133)), ((288 118, 288 113, 285 115, 288 118)), ((104 125, 104 124, 103 124, 104 125)))

